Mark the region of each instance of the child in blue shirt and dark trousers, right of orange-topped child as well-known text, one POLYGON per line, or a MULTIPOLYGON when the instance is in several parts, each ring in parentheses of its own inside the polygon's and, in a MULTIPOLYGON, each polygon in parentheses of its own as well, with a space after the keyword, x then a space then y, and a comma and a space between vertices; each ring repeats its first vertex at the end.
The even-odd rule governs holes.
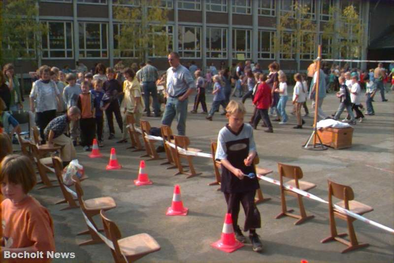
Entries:
POLYGON ((102 80, 97 78, 93 80, 94 90, 91 90, 93 97, 95 98, 95 120, 96 120, 96 131, 97 131, 97 140, 99 147, 103 147, 102 144, 102 125, 103 125, 103 102, 102 97, 104 96, 104 92, 102 91, 102 80))

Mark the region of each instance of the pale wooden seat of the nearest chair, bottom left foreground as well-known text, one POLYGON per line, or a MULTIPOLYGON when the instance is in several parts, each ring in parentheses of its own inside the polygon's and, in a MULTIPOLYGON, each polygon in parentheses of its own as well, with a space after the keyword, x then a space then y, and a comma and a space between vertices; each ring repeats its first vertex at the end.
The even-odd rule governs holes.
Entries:
POLYGON ((126 257, 147 254, 160 250, 160 245, 147 233, 118 239, 118 244, 122 254, 126 257))

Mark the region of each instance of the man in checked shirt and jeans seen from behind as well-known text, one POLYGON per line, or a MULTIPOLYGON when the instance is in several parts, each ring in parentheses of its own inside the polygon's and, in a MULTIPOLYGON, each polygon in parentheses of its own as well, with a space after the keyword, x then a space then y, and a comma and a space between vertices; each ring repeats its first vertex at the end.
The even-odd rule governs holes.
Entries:
POLYGON ((157 98, 156 80, 159 78, 157 69, 151 65, 151 61, 147 61, 136 74, 137 79, 142 82, 142 92, 144 93, 144 103, 146 107, 146 115, 150 117, 151 109, 149 107, 149 96, 152 96, 153 109, 155 117, 160 117, 160 104, 157 98))

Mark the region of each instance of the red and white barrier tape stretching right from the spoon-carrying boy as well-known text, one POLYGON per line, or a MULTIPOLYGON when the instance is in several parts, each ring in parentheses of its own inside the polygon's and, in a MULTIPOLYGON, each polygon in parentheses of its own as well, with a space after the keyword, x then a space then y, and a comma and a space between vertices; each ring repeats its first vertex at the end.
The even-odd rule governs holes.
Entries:
MULTIPOLYGON (((280 186, 280 182, 278 180, 275 180, 275 179, 272 179, 270 177, 266 177, 266 176, 263 176, 263 175, 259 175, 259 174, 257 175, 257 177, 262 179, 262 180, 264 180, 264 181, 266 181, 266 182, 269 182, 269 183, 272 183, 272 184, 280 186)), ((301 189, 289 186, 287 184, 283 184, 283 187, 286 188, 286 189, 289 189, 291 191, 294 191, 294 192, 296 192, 296 193, 298 193, 298 194, 300 194, 302 196, 305 196, 307 198, 310 198, 310 199, 313 199, 313 200, 316 200, 316 201, 328 204, 328 202, 326 200, 324 200, 324 199, 322 199, 322 198, 320 198, 320 197, 318 197, 316 195, 313 195, 311 193, 308 193, 306 191, 303 191, 301 189)), ((388 226, 385 226, 385 225, 379 224, 377 222, 374 222, 372 220, 369 220, 369 219, 367 219, 367 218, 365 218, 363 216, 360 216, 360 215, 358 215, 356 213, 353 213, 353 212, 351 212, 351 211, 349 211, 349 210, 347 210, 345 208, 342 208, 342 207, 340 207, 338 205, 334 204, 334 208, 339 210, 340 212, 345 213, 346 215, 351 216, 353 218, 356 218, 356 219, 358 219, 358 220, 360 220, 360 221, 362 221, 364 223, 367 223, 369 225, 374 225, 374 226, 376 226, 378 228, 381 228, 383 230, 389 231, 389 232, 394 234, 394 229, 393 228, 390 228, 388 226)))

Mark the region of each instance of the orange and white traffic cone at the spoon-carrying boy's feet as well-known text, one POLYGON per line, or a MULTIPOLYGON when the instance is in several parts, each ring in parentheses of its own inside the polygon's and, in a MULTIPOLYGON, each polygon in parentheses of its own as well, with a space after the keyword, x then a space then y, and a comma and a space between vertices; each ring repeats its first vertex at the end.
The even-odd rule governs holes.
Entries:
POLYGON ((226 214, 225 224, 223 224, 222 237, 220 240, 212 243, 211 246, 227 253, 231 253, 244 246, 241 242, 235 239, 230 213, 226 214))

